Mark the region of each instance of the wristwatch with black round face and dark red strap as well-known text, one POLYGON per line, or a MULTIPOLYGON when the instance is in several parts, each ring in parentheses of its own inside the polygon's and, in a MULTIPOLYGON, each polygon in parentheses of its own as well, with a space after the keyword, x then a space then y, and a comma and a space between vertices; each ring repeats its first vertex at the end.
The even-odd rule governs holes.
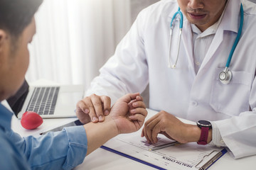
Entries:
POLYGON ((197 142, 198 145, 207 145, 208 132, 212 128, 210 122, 207 120, 199 120, 196 124, 201 128, 201 137, 197 142))

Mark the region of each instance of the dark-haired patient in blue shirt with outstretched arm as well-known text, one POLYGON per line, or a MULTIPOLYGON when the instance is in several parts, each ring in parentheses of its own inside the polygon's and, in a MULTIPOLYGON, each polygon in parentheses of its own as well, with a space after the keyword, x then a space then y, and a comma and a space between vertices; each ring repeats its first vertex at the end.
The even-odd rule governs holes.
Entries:
MULTIPOLYGON (((0 0, 0 101, 23 84, 28 43, 36 33, 33 16, 42 1, 0 0)), ((103 123, 21 137, 11 130, 13 113, 0 104, 0 169, 73 169, 110 138, 142 128, 146 114, 142 97, 127 94, 112 106, 103 123)))

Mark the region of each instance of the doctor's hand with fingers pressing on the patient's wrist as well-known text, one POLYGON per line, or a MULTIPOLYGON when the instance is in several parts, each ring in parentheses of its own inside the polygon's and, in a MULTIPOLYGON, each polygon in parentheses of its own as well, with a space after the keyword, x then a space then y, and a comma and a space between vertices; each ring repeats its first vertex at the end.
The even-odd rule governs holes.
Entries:
POLYGON ((103 122, 105 115, 110 114, 111 99, 108 96, 92 94, 78 102, 76 115, 81 123, 103 122))

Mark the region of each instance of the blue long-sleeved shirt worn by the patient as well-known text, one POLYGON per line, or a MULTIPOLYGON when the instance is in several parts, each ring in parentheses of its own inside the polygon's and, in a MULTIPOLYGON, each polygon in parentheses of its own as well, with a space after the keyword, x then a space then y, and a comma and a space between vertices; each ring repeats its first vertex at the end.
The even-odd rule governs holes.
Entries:
POLYGON ((73 169, 82 164, 87 136, 82 126, 21 137, 11 130, 13 113, 0 103, 0 169, 73 169))

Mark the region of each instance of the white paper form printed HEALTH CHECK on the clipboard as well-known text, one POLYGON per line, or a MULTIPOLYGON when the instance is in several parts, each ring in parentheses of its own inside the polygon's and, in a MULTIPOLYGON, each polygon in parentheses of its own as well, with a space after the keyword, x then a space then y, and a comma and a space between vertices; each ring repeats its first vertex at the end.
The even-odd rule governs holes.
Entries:
POLYGON ((151 145, 146 141, 145 137, 141 137, 141 132, 142 130, 139 130, 131 134, 118 135, 105 143, 104 147, 114 149, 114 151, 127 154, 143 162, 159 166, 162 169, 193 170, 199 169, 203 165, 207 168, 207 162, 210 166, 217 159, 217 156, 220 157, 222 155, 221 150, 223 148, 198 145, 196 142, 174 145, 152 151, 151 149, 156 146, 173 141, 159 134, 159 142, 151 145), (210 159, 214 159, 213 162, 210 162, 210 159), (201 160, 203 161, 201 162, 201 160))

